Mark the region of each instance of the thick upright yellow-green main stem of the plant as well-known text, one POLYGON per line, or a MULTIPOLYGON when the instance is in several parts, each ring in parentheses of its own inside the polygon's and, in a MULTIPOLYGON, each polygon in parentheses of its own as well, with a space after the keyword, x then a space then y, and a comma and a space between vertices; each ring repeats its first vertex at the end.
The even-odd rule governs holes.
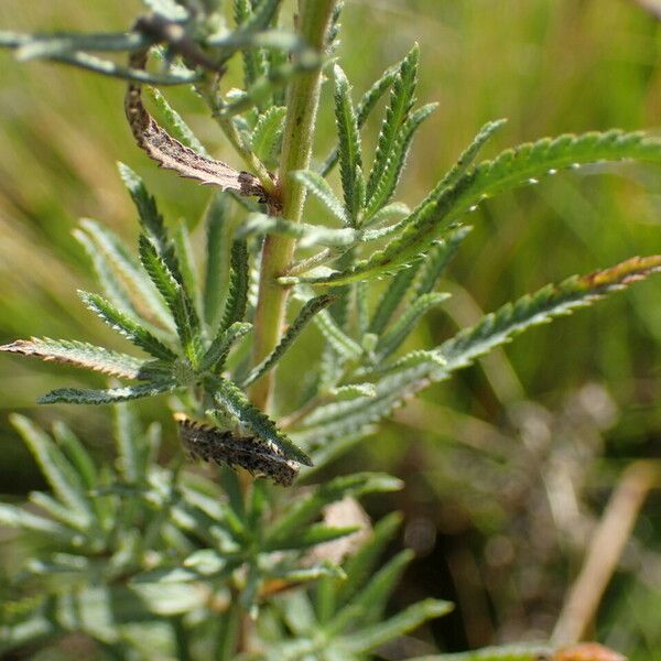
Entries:
MULTIPOLYGON (((307 45, 323 53, 324 41, 336 0, 299 0, 299 30, 307 45)), ((316 122, 322 83, 321 68, 294 78, 288 89, 286 120, 280 160, 281 214, 288 220, 301 221, 305 188, 290 178, 295 170, 307 170, 316 122)), ((259 296, 254 319, 252 361, 258 365, 280 342, 288 290, 278 284, 294 254, 295 239, 269 236, 264 240, 261 260, 259 296)), ((268 409, 273 390, 271 370, 256 381, 250 399, 268 409)))

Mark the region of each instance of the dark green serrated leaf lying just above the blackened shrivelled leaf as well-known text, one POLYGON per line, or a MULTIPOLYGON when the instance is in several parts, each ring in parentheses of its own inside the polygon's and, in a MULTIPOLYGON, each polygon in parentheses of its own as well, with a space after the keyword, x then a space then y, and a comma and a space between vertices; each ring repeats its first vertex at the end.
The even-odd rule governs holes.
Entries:
POLYGON ((271 443, 282 454, 295 462, 311 466, 310 457, 293 443, 275 423, 257 407, 250 403, 242 390, 227 379, 215 378, 208 381, 209 394, 225 412, 239 424, 249 429, 258 438, 271 443))

